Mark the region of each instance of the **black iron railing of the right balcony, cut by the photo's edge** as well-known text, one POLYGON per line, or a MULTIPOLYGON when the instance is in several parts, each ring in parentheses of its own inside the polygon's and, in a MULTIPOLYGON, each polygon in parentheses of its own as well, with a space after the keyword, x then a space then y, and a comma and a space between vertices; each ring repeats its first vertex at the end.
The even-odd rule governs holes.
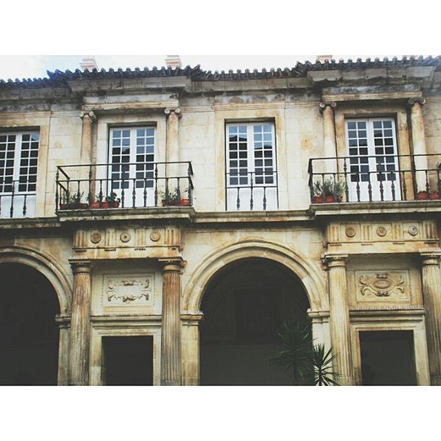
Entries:
POLYGON ((440 199, 441 155, 311 158, 311 203, 440 199))

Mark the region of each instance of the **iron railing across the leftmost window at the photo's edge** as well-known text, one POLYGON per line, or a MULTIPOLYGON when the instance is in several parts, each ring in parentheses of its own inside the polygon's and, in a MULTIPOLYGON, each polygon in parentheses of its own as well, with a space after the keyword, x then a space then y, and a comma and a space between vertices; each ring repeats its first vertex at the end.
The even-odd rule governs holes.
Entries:
MULTIPOLYGON (((26 218, 35 214, 35 192, 27 191, 25 178, 0 179, 0 218, 26 218)), ((34 184, 31 184, 34 185, 34 184)))

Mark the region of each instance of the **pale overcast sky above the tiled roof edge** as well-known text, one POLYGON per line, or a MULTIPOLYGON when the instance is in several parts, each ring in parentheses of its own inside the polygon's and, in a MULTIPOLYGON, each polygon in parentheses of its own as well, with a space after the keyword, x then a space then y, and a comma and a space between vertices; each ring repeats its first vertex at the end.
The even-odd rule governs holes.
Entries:
MULTIPOLYGON (((396 54, 399 58, 402 54, 396 54)), ((393 57, 393 55, 386 55, 393 57)), ((80 66, 84 55, 54 55, 54 56, 0 56, 0 79, 43 78, 46 71, 75 70, 80 66)), ((101 68, 152 68, 165 65, 166 55, 95 55, 98 67, 101 68)), ((356 59, 358 55, 336 55, 335 59, 356 59)), ((362 55, 362 59, 369 56, 362 55)), ((371 55, 371 58, 384 55, 371 55)), ((262 68, 292 68, 297 61, 315 61, 316 55, 181 55, 183 65, 197 65, 205 70, 244 70, 262 68)))

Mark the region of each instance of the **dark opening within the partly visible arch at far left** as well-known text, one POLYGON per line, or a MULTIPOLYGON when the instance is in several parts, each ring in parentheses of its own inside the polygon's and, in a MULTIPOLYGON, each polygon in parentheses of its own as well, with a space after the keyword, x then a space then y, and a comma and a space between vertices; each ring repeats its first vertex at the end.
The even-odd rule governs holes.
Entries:
POLYGON ((0 384, 57 384, 59 300, 37 269, 0 265, 0 384))

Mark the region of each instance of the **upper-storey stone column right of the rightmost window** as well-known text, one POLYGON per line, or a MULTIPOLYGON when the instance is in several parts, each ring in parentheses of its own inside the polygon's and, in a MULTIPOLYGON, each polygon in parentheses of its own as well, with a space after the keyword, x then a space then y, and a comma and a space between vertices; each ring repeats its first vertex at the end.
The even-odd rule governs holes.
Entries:
MULTIPOLYGON (((427 155, 426 138, 424 136, 424 121, 422 119, 422 105, 425 100, 422 98, 409 99, 411 108, 411 133, 413 154, 427 155)), ((418 192, 426 191, 426 174, 418 170, 427 170, 427 156, 415 156, 416 184, 418 192)), ((438 189, 438 188, 437 188, 438 189)), ((434 189, 434 190, 437 190, 434 189)))

